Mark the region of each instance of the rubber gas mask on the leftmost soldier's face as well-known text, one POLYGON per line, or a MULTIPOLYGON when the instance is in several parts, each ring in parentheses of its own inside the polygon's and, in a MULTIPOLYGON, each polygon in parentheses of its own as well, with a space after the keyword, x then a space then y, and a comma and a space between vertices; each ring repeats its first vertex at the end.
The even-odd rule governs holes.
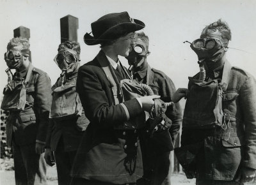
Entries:
POLYGON ((23 57, 22 56, 29 56, 29 50, 8 50, 4 54, 4 61, 6 61, 6 64, 8 68, 10 69, 17 69, 20 67, 20 64, 22 64, 23 57))

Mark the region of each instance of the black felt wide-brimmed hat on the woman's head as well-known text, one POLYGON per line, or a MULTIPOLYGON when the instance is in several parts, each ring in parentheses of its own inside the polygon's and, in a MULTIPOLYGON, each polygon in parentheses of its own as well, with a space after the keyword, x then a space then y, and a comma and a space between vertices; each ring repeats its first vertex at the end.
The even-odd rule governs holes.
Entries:
POLYGON ((93 36, 89 33, 84 34, 86 45, 97 45, 104 41, 115 40, 125 34, 143 29, 145 24, 131 18, 127 11, 124 11, 104 15, 93 22, 91 27, 93 36))

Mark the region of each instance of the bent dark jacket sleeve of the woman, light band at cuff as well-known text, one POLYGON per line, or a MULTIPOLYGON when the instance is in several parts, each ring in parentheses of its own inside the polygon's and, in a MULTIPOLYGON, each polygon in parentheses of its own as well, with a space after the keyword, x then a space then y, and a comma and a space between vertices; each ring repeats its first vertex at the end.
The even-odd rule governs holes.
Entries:
POLYGON ((102 80, 99 79, 106 77, 96 74, 96 70, 101 68, 82 66, 77 76, 77 93, 90 122, 98 124, 99 127, 109 127, 136 117, 142 112, 140 103, 135 98, 118 105, 110 105, 113 100, 109 100, 112 97, 106 94, 108 87, 102 87, 102 80))

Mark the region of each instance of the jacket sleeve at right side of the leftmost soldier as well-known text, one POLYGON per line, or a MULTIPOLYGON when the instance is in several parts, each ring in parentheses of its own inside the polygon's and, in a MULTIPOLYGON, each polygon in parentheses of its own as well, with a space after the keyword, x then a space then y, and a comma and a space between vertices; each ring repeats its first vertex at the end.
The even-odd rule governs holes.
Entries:
POLYGON ((38 124, 36 142, 45 144, 52 103, 51 80, 47 73, 38 75, 35 91, 36 123, 38 124))

